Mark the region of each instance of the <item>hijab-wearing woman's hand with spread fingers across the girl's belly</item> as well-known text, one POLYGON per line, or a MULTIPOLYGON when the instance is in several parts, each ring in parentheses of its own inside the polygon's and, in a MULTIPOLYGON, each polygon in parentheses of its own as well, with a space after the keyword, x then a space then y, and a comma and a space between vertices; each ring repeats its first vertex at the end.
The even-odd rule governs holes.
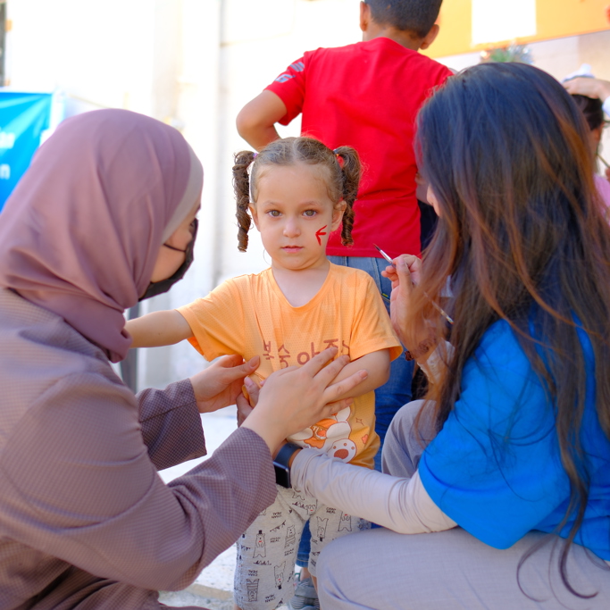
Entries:
MULTIPOLYGON (((247 415, 242 427, 254 430, 262 437, 272 455, 289 435, 337 413, 352 402, 351 397, 337 399, 366 379, 368 373, 361 370, 333 383, 338 372, 349 362, 349 357, 343 355, 329 363, 335 355, 337 348, 329 347, 304 366, 289 366, 265 380, 256 408, 247 415)), ((241 399, 239 402, 245 406, 241 399)))

